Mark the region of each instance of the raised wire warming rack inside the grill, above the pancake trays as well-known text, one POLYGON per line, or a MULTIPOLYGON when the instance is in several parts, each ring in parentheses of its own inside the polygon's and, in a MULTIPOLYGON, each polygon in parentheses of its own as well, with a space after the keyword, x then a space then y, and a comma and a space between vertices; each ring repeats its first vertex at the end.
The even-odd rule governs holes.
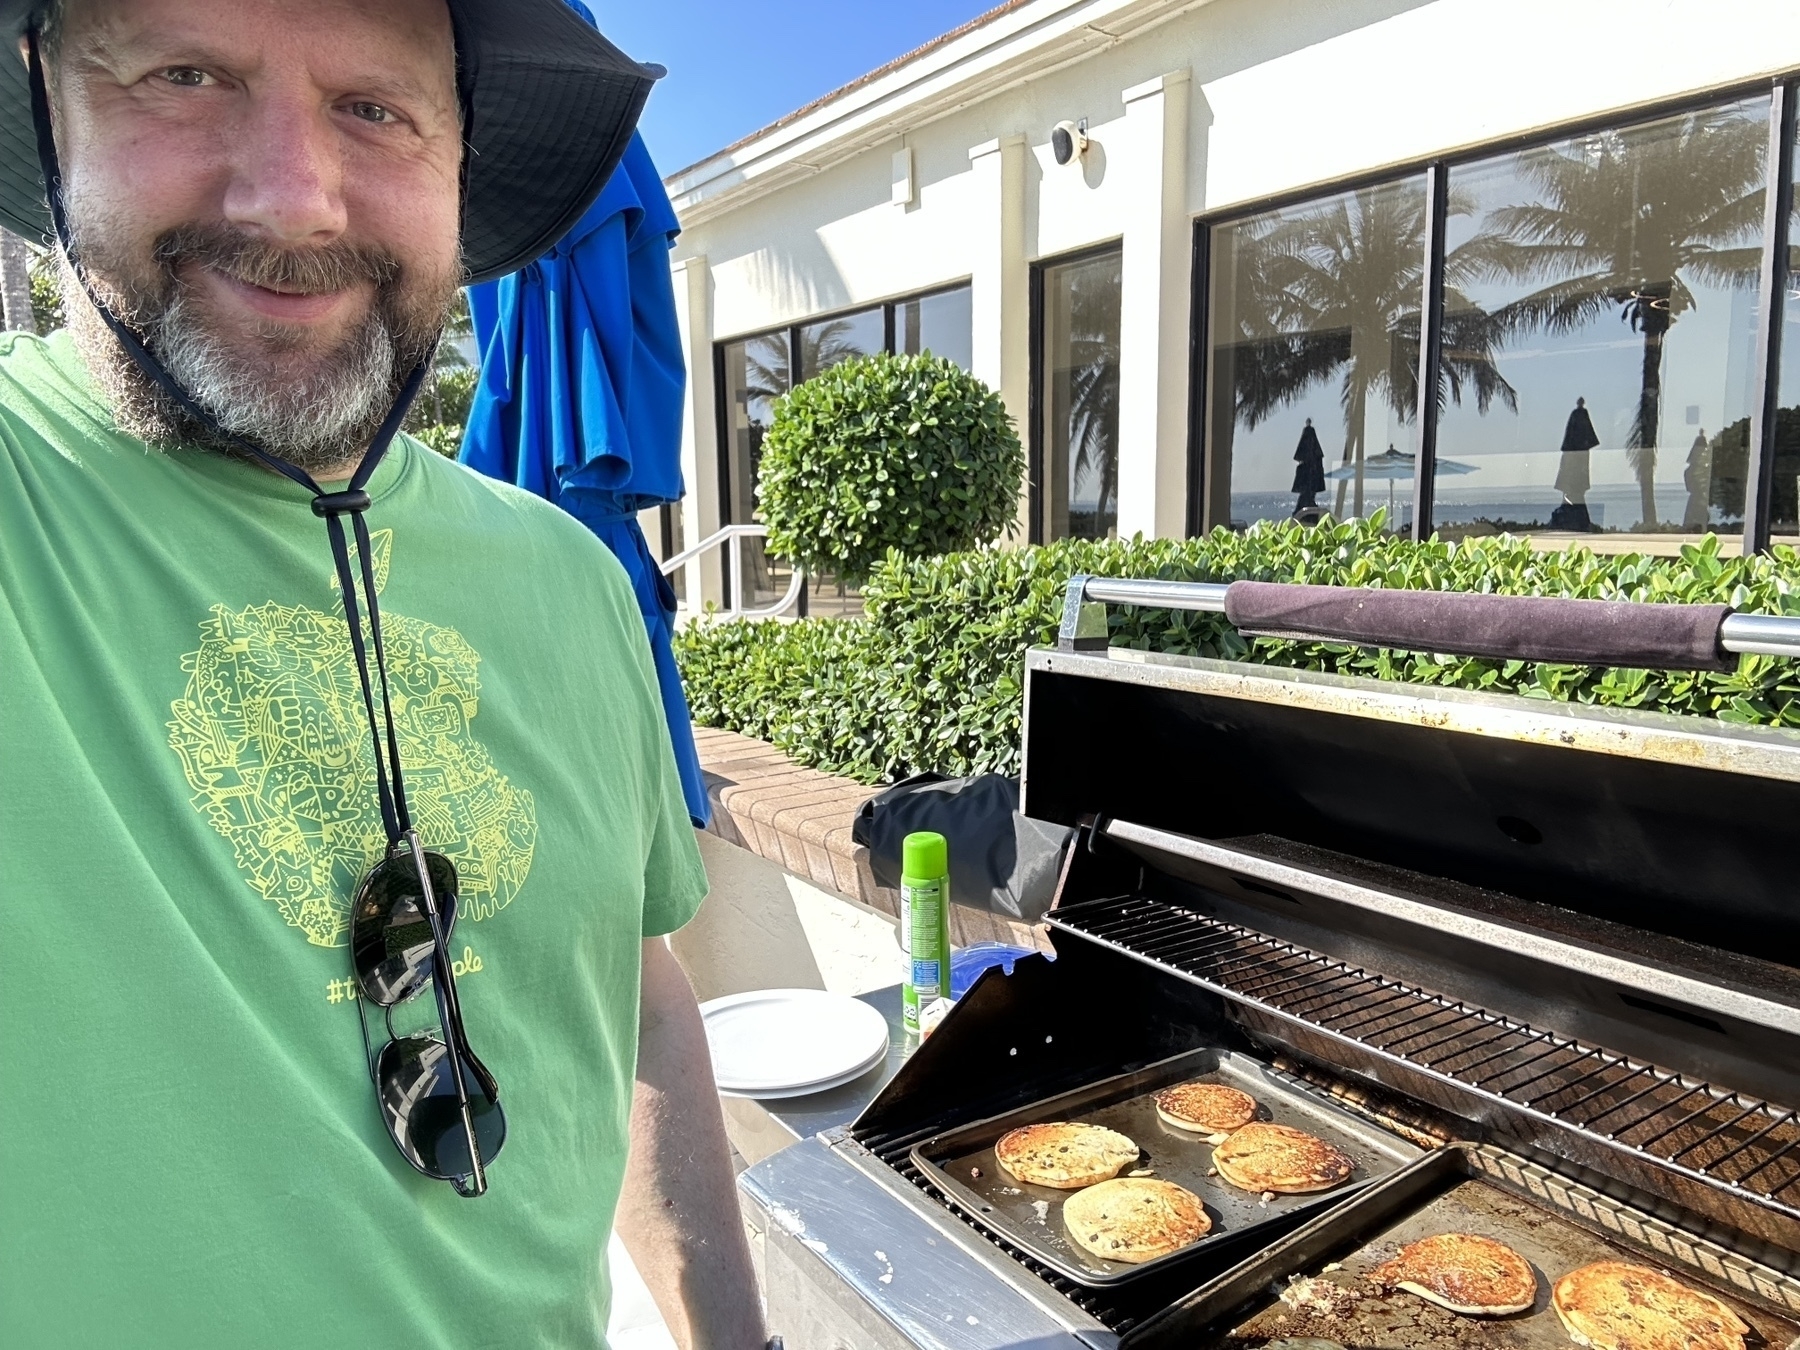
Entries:
POLYGON ((1143 895, 1049 923, 1463 1089, 1800 1213, 1800 1120, 1624 1055, 1143 895))

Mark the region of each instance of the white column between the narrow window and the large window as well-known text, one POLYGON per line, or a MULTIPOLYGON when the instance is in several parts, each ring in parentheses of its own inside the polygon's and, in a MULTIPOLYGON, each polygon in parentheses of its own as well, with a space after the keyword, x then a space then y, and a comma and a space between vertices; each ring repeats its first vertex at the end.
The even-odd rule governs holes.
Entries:
MULTIPOLYGON (((1118 149, 1120 535, 1181 536, 1188 495, 1188 70, 1134 85, 1118 149)), ((1111 148, 1109 148, 1111 149, 1111 148)))

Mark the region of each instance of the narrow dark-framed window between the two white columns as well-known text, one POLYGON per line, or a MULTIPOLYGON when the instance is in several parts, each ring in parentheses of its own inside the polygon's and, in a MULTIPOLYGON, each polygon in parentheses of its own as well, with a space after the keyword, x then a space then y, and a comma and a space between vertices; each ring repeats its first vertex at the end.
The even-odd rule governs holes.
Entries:
POLYGON ((1120 488, 1120 250, 1040 263, 1033 304, 1039 536, 1111 538, 1120 488))

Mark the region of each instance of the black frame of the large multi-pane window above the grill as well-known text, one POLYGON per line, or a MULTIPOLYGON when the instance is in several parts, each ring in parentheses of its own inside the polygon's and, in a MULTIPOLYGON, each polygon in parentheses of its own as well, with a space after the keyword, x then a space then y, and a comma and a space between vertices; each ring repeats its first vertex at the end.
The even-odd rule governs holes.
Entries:
MULTIPOLYGON (((1211 270, 1213 270, 1213 234, 1222 225, 1233 225, 1267 211, 1319 202, 1339 193, 1354 193, 1368 187, 1397 184, 1406 178, 1424 175, 1426 178, 1426 256, 1422 266, 1422 308, 1418 335, 1418 401, 1413 409, 1418 427, 1418 473, 1413 479, 1413 533, 1415 540, 1431 538, 1433 491, 1436 479, 1436 434, 1438 401, 1427 391, 1436 391, 1438 360, 1444 326, 1444 254, 1445 254, 1445 194, 1453 169, 1492 158, 1496 155, 1516 153, 1552 146, 1559 140, 1588 135, 1593 131, 1622 131, 1687 112, 1723 106, 1741 99, 1759 95, 1769 97, 1769 146, 1764 162, 1764 229, 1762 229, 1762 272, 1757 279, 1757 342, 1751 356, 1751 414, 1750 414, 1750 464, 1744 484, 1744 533, 1741 549, 1744 554, 1764 553, 1771 545, 1769 536, 1769 497, 1775 473, 1775 407, 1780 401, 1780 340, 1784 290, 1791 281, 1784 263, 1784 252, 1791 243, 1793 194, 1795 194, 1795 110, 1800 106, 1800 70, 1787 70, 1778 76, 1760 76, 1757 79, 1733 81, 1696 90, 1672 99, 1615 108, 1606 113, 1557 122, 1532 131, 1519 131, 1494 140, 1460 146, 1454 151, 1427 155, 1413 160, 1382 166, 1339 178, 1273 193, 1251 202, 1235 202, 1222 211, 1201 212, 1193 218, 1193 263, 1190 268, 1192 306, 1188 333, 1188 535, 1204 535, 1217 527, 1213 511, 1208 511, 1208 495, 1217 488, 1208 472, 1211 446, 1206 437, 1208 396, 1211 374, 1211 270)), ((1033 293, 1033 302, 1037 295, 1033 293)), ((1033 347, 1035 360, 1035 347, 1033 347)), ((1035 389, 1035 367, 1033 367, 1035 389)), ((1229 513, 1228 513, 1229 517, 1229 513)), ((1033 538, 1033 542, 1039 542, 1033 538)))

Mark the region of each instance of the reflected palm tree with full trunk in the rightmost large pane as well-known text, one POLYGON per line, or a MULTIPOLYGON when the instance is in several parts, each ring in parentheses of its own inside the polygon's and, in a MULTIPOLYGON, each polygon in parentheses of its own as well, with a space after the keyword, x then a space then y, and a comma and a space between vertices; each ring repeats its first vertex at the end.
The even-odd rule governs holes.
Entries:
POLYGON ((1539 200, 1496 207, 1483 225, 1483 275, 1543 283, 1496 310, 1507 331, 1577 333, 1613 311, 1642 338, 1625 441, 1640 527, 1658 524, 1665 340, 1696 308, 1694 283, 1755 279, 1766 146, 1768 101, 1759 101, 1523 151, 1510 173, 1539 200))

